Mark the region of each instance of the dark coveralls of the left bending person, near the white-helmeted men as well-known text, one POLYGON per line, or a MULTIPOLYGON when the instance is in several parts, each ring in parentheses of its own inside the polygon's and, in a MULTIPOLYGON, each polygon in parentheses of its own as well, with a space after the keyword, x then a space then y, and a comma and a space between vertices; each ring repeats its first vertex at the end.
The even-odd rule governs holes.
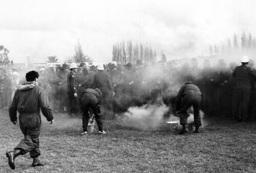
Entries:
POLYGON ((94 89, 88 88, 86 89, 81 96, 81 105, 82 105, 82 128, 83 132, 87 132, 88 121, 89 121, 89 109, 91 108, 94 112, 95 119, 98 125, 99 131, 102 131, 102 117, 100 114, 100 100, 99 93, 94 89))

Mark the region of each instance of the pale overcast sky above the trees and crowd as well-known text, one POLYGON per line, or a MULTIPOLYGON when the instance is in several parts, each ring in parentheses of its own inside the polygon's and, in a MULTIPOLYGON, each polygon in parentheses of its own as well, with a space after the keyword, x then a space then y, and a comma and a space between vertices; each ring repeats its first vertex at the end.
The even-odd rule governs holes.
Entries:
POLYGON ((14 62, 66 59, 79 41, 94 60, 116 42, 151 45, 168 59, 208 54, 233 33, 256 31, 256 1, 1 1, 0 45, 14 62))

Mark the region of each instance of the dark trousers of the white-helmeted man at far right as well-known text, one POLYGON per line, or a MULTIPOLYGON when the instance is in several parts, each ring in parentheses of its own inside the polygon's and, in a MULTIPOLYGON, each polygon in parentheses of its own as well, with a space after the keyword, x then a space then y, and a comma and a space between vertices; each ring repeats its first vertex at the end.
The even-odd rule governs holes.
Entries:
POLYGON ((250 89, 234 89, 232 101, 232 116, 248 120, 248 105, 250 100, 250 89), (241 110, 239 109, 241 107, 241 110), (239 114, 241 112, 241 114, 239 114))

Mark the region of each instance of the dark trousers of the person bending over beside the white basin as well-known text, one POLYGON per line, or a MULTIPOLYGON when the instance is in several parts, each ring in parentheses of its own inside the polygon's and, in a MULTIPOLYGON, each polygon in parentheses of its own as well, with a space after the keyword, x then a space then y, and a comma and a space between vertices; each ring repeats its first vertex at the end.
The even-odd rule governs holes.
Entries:
POLYGON ((202 126, 201 116, 200 116, 200 104, 202 102, 201 94, 195 94, 192 97, 183 97, 178 111, 180 117, 180 124, 187 124, 187 109, 193 106, 194 109, 194 124, 196 127, 202 126))

